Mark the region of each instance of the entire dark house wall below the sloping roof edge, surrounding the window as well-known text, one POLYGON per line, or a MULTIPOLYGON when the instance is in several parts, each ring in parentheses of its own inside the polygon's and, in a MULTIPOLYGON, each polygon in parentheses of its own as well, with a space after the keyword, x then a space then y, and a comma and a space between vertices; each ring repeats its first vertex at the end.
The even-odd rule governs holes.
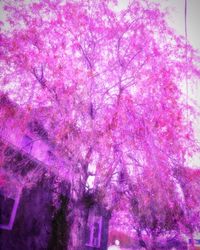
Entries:
MULTIPOLYGON (((15 180, 19 182, 19 185, 24 184, 24 188, 22 185, 13 227, 11 230, 0 228, 0 250, 66 249, 68 236, 63 232, 67 232, 65 211, 67 211, 68 204, 60 202, 59 199, 62 194, 67 201, 68 183, 58 180, 58 177, 49 174, 40 162, 34 161, 28 154, 10 145, 4 149, 4 155, 5 159, 0 170, 3 169, 5 173, 9 173, 12 182, 15 180), (55 204, 55 197, 57 197, 58 204, 55 204), (59 216, 57 211, 60 211, 59 216), (57 248, 54 248, 54 244, 57 248)), ((6 187, 12 192, 13 187, 9 185, 12 183, 4 182, 0 187, 0 219, 8 217, 8 214, 4 216, 2 213, 12 210, 13 202, 8 200, 8 196, 3 192, 3 188, 6 187), (8 206, 7 209, 5 204, 8 206)), ((10 195, 12 197, 12 194, 10 195)))

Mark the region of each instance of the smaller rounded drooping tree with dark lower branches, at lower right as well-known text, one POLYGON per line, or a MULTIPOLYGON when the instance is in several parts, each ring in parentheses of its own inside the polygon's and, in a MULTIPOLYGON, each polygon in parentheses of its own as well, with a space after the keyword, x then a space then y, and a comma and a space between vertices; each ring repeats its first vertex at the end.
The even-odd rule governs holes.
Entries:
POLYGON ((147 167, 132 181, 127 199, 132 215, 130 224, 140 246, 157 249, 159 245, 167 244, 166 240, 181 239, 183 231, 180 228, 186 226, 185 202, 172 175, 165 170, 161 174, 147 167))

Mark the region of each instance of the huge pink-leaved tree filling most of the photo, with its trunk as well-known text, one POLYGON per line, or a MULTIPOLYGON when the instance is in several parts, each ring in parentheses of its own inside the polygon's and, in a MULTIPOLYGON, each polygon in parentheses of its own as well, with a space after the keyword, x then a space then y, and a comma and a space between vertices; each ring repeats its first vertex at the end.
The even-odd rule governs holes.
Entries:
POLYGON ((109 0, 2 2, 1 90, 39 111, 67 160, 59 168, 74 204, 69 249, 81 249, 88 190, 111 209, 126 180, 143 171, 170 179, 198 150, 181 89, 186 76, 199 78, 199 57, 148 0, 120 13, 109 0))

